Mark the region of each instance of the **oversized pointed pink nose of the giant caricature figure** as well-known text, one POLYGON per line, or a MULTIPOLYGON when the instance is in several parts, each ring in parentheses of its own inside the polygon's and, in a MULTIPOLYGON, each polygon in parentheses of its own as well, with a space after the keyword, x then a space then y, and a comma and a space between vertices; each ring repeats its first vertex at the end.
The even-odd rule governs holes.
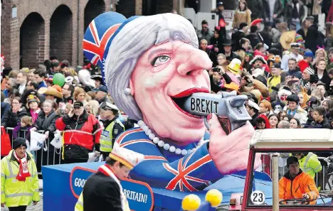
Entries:
POLYGON ((179 75, 196 75, 202 70, 211 69, 211 59, 203 50, 186 47, 181 51, 179 56, 183 58, 181 58, 182 62, 177 68, 179 75))

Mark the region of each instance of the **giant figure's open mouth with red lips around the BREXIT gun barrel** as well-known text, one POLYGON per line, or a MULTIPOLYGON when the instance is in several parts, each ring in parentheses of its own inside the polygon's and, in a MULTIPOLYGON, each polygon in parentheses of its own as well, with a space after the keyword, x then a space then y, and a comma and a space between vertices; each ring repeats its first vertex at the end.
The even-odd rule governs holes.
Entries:
POLYGON ((196 116, 194 114, 191 114, 189 112, 186 112, 184 109, 184 103, 186 99, 191 96, 193 93, 198 93, 198 92, 204 92, 204 93, 209 93, 209 90, 205 87, 194 87, 189 90, 184 90, 183 92, 180 92, 179 94, 176 94, 174 96, 171 96, 172 101, 174 102, 174 105, 176 106, 177 109, 179 109, 180 112, 183 114, 186 114, 189 117, 195 117, 198 119, 202 119, 203 117, 196 116))

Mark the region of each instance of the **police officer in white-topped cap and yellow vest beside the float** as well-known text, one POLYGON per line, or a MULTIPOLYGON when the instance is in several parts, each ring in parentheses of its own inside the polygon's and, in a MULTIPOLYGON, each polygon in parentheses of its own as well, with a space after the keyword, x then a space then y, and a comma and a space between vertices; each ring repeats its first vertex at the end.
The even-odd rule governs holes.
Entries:
POLYGON ((112 151, 112 146, 115 144, 117 136, 125 131, 125 127, 118 118, 119 109, 110 101, 105 101, 100 104, 100 118, 104 125, 104 130, 100 135, 100 152, 103 156, 103 161, 109 156, 112 151))

